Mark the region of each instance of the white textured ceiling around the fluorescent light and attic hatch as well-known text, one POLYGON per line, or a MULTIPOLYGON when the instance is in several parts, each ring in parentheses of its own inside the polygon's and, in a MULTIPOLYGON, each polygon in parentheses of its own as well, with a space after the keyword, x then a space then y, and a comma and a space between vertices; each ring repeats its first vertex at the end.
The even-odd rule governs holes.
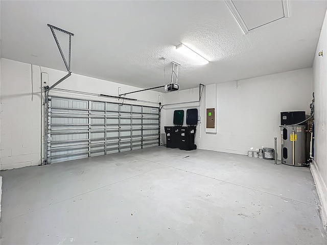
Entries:
MULTIPOLYGON (((242 8, 255 11, 254 3, 242 8)), ((290 18, 245 35, 224 1, 1 1, 1 56, 65 70, 50 23, 75 34, 75 74, 159 86, 165 57, 166 83, 176 61, 186 89, 311 67, 326 7, 326 1, 289 1, 290 18), (181 42, 211 62, 192 64, 175 51, 181 42)), ((64 34, 59 38, 68 44, 64 34)))

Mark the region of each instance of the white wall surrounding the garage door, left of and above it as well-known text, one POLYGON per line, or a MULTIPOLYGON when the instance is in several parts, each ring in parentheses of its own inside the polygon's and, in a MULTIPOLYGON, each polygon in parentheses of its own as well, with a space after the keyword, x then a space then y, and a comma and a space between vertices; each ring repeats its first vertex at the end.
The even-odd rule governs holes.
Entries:
MULTIPOLYGON (((49 74, 49 85, 51 86, 67 72, 54 70, 36 65, 17 62, 9 59, 1 59, 1 168, 10 169, 30 165, 38 165, 42 161, 41 138, 41 75, 40 72, 49 74), (33 101, 32 101, 32 72, 33 67, 33 101)), ((135 91, 140 88, 122 85, 105 80, 85 77, 73 74, 63 81, 58 88, 91 92, 97 94, 118 95, 121 92, 135 91)), ((51 92, 61 96, 73 96, 67 92, 51 92)), ((105 97, 74 95, 84 99, 99 101, 115 101, 105 97)), ((156 91, 145 91, 130 94, 127 97, 145 101, 159 102, 162 93, 156 91)), ((125 103, 132 104, 131 101, 125 103)), ((140 103, 142 104, 142 103, 140 103)), ((143 103, 145 104, 145 103, 143 103)), ((157 106, 154 104, 147 104, 157 106)))

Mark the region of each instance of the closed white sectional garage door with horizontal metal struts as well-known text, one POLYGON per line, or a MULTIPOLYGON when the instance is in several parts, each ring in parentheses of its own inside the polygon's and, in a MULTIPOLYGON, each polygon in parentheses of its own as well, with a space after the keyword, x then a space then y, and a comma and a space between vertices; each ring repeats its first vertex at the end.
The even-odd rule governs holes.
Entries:
POLYGON ((49 97, 48 163, 159 145, 159 108, 49 97))

